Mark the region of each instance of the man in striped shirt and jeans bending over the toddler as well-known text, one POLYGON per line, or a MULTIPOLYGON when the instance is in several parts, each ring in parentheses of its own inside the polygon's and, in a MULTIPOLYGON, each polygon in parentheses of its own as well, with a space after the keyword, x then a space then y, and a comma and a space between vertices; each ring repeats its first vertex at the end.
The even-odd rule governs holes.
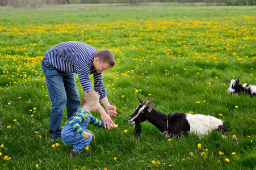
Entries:
POLYGON ((107 92, 102 82, 102 72, 115 65, 115 57, 110 50, 96 50, 83 42, 62 42, 50 48, 42 61, 42 70, 52 102, 49 134, 51 139, 61 137, 61 121, 66 105, 68 119, 81 107, 74 73, 82 85, 83 91, 92 90, 90 74, 94 78, 94 90, 100 95, 98 111, 104 127, 111 129, 116 116, 116 107, 107 99, 107 92), (111 117, 110 117, 111 116, 111 117))

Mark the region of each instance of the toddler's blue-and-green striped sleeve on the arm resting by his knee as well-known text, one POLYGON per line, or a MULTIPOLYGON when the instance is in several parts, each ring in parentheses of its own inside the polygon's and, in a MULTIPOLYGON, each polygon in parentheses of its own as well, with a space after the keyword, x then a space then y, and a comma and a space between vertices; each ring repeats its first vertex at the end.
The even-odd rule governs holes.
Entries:
POLYGON ((74 117, 71 118, 69 123, 72 125, 72 128, 77 131, 77 133, 83 135, 86 133, 85 130, 80 126, 80 124, 86 120, 87 114, 82 113, 82 112, 77 112, 74 117))

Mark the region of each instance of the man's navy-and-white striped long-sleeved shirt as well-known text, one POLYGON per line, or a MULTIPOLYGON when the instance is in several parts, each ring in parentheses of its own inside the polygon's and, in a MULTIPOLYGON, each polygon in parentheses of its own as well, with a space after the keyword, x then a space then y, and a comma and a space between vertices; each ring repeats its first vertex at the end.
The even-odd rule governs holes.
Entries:
POLYGON ((69 73, 77 73, 83 91, 93 90, 90 74, 94 78, 94 90, 100 100, 107 96, 102 82, 102 72, 97 73, 93 65, 94 53, 98 50, 78 41, 62 42, 50 48, 44 54, 45 65, 69 73))

